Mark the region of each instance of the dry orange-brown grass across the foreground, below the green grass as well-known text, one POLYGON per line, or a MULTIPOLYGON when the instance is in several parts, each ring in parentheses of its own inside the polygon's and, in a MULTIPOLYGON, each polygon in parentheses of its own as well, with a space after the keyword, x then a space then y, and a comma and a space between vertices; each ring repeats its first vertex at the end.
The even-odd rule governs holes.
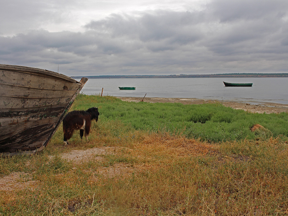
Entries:
MULTIPOLYGON (((39 183, 37 190, 0 191, 0 215, 287 213, 288 151, 280 138, 211 144, 143 133, 127 143, 14 158, 11 166, 32 167, 15 175, 22 175, 16 182, 39 183)), ((12 185, 14 174, 4 176, 12 185)))

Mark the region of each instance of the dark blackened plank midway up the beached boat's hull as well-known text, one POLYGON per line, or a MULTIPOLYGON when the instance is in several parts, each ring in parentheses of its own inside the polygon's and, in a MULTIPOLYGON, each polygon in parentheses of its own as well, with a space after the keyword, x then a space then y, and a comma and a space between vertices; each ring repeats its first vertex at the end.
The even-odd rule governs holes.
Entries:
MULTIPOLYGON (((63 112, 67 104, 58 104, 44 107, 24 107, 24 108, 6 108, 0 109, 0 116, 5 117, 18 117, 22 115, 41 114, 46 112, 63 112)), ((1 122, 1 119, 0 119, 1 122)))

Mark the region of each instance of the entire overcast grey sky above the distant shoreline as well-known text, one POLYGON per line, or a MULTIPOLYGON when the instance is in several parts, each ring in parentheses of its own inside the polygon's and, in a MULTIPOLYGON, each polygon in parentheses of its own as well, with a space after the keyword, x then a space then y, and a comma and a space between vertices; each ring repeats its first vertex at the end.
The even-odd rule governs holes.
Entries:
POLYGON ((76 75, 287 73, 287 0, 1 0, 0 63, 76 75))

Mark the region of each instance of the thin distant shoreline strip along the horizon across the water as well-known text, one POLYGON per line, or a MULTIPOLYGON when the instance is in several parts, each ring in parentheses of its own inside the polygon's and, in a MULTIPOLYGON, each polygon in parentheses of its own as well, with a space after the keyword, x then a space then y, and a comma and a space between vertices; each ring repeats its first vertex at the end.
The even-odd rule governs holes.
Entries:
POLYGON ((288 77, 288 73, 223 73, 223 74, 176 74, 176 75, 100 75, 74 76, 74 79, 118 79, 118 78, 221 78, 221 77, 288 77))

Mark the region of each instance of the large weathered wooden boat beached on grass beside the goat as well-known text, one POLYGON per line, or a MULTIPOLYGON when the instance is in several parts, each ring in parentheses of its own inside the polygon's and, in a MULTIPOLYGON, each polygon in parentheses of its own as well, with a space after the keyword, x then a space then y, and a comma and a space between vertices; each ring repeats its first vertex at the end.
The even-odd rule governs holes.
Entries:
POLYGON ((0 65, 0 155, 33 154, 46 147, 87 80, 0 65))

